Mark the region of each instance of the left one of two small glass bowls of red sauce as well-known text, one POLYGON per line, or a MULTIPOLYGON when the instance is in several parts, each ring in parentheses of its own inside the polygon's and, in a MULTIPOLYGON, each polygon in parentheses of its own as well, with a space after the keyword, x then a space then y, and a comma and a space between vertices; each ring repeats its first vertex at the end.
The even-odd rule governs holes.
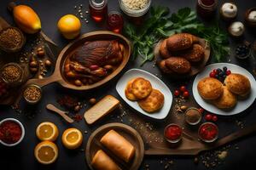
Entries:
POLYGON ((165 138, 170 143, 177 143, 182 139, 183 130, 175 123, 171 123, 165 128, 165 138))

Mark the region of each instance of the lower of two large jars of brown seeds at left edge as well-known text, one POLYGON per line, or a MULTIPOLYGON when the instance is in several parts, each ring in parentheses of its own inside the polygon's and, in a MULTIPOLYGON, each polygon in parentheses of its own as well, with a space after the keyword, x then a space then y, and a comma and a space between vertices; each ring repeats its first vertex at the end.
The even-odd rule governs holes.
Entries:
POLYGON ((3 65, 0 74, 3 82, 10 87, 20 86, 20 84, 26 81, 26 73, 17 63, 3 65))

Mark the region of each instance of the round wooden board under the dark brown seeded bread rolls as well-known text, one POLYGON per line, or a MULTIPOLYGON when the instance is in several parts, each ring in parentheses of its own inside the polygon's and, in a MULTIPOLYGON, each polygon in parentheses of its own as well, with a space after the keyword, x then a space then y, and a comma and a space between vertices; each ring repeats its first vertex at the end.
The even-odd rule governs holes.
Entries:
MULTIPOLYGON (((156 58, 157 62, 159 62, 162 59, 159 54, 159 48, 160 48, 161 42, 163 42, 163 39, 160 40, 160 42, 158 42, 154 47, 154 57, 156 58)), ((205 57, 198 64, 191 65, 191 71, 189 72, 189 74, 184 74, 184 75, 166 74, 166 75, 168 75, 170 77, 181 79, 181 78, 193 77, 197 73, 202 71, 205 68, 205 66, 207 65, 208 60, 210 59, 211 47, 210 47, 209 42, 207 42, 205 39, 202 39, 202 38, 199 38, 199 44, 203 48, 205 48, 205 57)))

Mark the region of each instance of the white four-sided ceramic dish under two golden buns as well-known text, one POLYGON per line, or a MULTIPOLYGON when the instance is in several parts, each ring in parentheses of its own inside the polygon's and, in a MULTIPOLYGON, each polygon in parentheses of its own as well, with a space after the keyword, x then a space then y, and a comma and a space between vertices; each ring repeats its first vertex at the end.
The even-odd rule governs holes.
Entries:
POLYGON ((172 106, 172 92, 170 91, 170 89, 158 77, 155 77, 153 74, 147 71, 143 71, 139 69, 131 69, 130 71, 125 72, 123 77, 121 77, 119 79, 119 82, 116 84, 116 90, 119 93, 119 95, 122 97, 122 99, 124 99, 125 102, 128 105, 130 105, 133 109, 142 113, 145 116, 149 116, 154 119, 166 118, 172 106), (137 104, 136 101, 131 101, 125 97, 125 88, 126 88, 127 82, 129 82, 132 78, 136 78, 136 77, 143 77, 147 79, 149 82, 151 82, 153 88, 160 90, 160 92, 165 95, 165 104, 160 109, 160 111, 157 111, 154 113, 148 113, 146 111, 143 111, 143 109, 140 108, 140 106, 137 104))

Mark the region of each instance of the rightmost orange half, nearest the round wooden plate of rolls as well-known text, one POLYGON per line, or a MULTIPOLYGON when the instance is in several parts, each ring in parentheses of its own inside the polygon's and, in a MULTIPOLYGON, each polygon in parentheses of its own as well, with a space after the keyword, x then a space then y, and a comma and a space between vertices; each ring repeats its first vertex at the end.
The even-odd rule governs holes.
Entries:
POLYGON ((62 134, 62 144, 67 149, 76 149, 83 142, 83 134, 77 128, 67 128, 62 134))

